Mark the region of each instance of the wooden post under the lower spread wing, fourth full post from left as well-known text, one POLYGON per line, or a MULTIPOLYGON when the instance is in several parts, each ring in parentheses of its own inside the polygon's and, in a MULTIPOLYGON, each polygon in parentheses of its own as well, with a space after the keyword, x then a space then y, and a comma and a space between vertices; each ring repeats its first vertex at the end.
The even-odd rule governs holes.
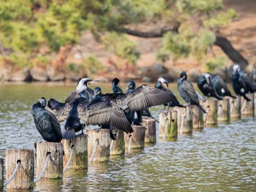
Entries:
POLYGON ((91 163, 103 163, 110 160, 110 132, 105 128, 91 128, 86 130, 88 135, 88 159, 94 152, 94 147, 97 139, 99 139, 99 145, 91 163))

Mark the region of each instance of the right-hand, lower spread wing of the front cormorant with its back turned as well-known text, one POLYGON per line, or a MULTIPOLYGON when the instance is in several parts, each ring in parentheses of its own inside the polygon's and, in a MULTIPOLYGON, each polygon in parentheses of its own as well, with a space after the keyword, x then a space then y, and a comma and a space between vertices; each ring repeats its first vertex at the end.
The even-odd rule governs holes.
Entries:
MULTIPOLYGON (((83 109, 83 111, 85 111, 85 109, 83 109)), ((78 110, 78 115, 79 113, 80 110, 78 110)), ((110 124, 118 129, 121 129, 122 131, 125 131, 127 134, 132 133, 133 131, 132 126, 129 124, 129 121, 124 115, 124 111, 121 110, 115 102, 110 100, 90 104, 87 107, 87 112, 83 112, 83 115, 87 115, 87 125, 110 124)))

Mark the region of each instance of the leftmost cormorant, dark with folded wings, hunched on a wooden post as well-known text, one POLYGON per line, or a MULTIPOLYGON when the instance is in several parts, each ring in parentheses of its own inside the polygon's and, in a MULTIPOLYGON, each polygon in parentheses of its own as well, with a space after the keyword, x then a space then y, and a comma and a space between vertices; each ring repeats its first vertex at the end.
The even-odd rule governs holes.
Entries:
POLYGON ((32 106, 32 115, 34 117, 34 124, 36 125, 39 134, 47 142, 61 142, 61 126, 56 117, 48 110, 45 110, 47 101, 44 97, 39 99, 36 104, 32 106))

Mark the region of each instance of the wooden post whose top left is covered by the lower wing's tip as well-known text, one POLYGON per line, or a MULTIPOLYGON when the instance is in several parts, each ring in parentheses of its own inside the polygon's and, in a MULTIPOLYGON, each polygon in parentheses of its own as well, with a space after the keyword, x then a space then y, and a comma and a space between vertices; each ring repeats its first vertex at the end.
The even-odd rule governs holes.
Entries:
POLYGON ((125 149, 143 149, 145 147, 145 126, 132 126, 133 133, 130 141, 129 134, 124 134, 125 149), (130 146, 129 146, 130 142, 130 146))

